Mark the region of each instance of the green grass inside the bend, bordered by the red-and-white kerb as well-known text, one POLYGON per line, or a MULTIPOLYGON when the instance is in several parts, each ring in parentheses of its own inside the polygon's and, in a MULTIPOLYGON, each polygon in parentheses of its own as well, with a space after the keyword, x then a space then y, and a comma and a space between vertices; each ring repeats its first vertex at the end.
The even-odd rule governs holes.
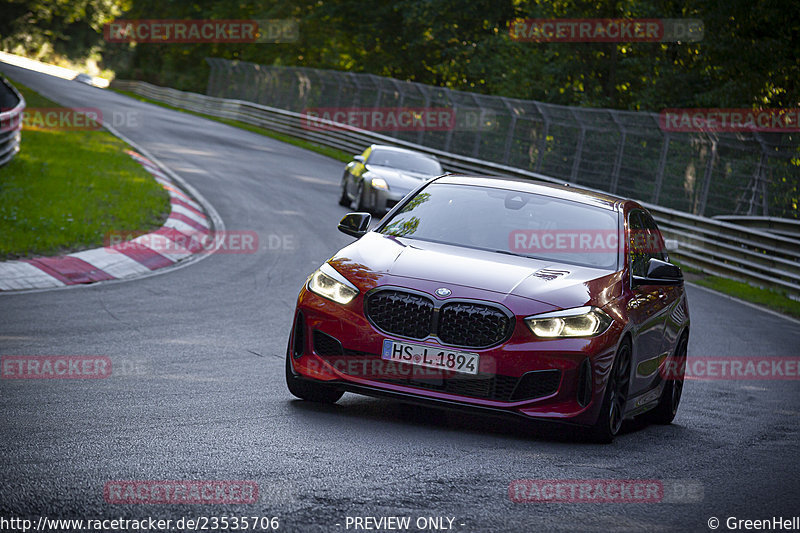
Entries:
MULTIPOLYGON (((61 107, 18 83, 27 108, 61 107)), ((169 195, 104 130, 23 127, 21 151, 0 167, 0 259, 94 248, 109 232, 147 232, 169 195)))

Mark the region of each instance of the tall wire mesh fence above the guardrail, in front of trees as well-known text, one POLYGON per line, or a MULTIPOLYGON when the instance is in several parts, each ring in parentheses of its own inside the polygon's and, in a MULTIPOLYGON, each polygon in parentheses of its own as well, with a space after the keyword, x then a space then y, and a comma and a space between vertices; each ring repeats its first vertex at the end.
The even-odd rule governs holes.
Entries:
POLYGON ((656 113, 487 96, 373 74, 206 61, 209 96, 295 112, 445 108, 454 117, 448 129, 381 133, 696 215, 800 217, 800 132, 666 131, 656 113))

